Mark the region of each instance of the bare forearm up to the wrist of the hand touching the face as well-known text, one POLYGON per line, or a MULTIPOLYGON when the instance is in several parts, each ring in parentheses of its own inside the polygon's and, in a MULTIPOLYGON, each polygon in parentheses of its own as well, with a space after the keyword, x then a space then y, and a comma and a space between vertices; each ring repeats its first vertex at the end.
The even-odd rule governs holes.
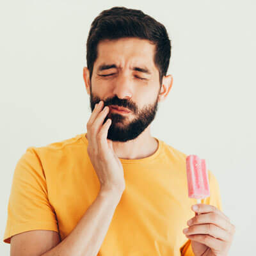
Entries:
POLYGON ((100 189, 99 195, 72 232, 41 256, 96 256, 121 197, 122 193, 100 189))

